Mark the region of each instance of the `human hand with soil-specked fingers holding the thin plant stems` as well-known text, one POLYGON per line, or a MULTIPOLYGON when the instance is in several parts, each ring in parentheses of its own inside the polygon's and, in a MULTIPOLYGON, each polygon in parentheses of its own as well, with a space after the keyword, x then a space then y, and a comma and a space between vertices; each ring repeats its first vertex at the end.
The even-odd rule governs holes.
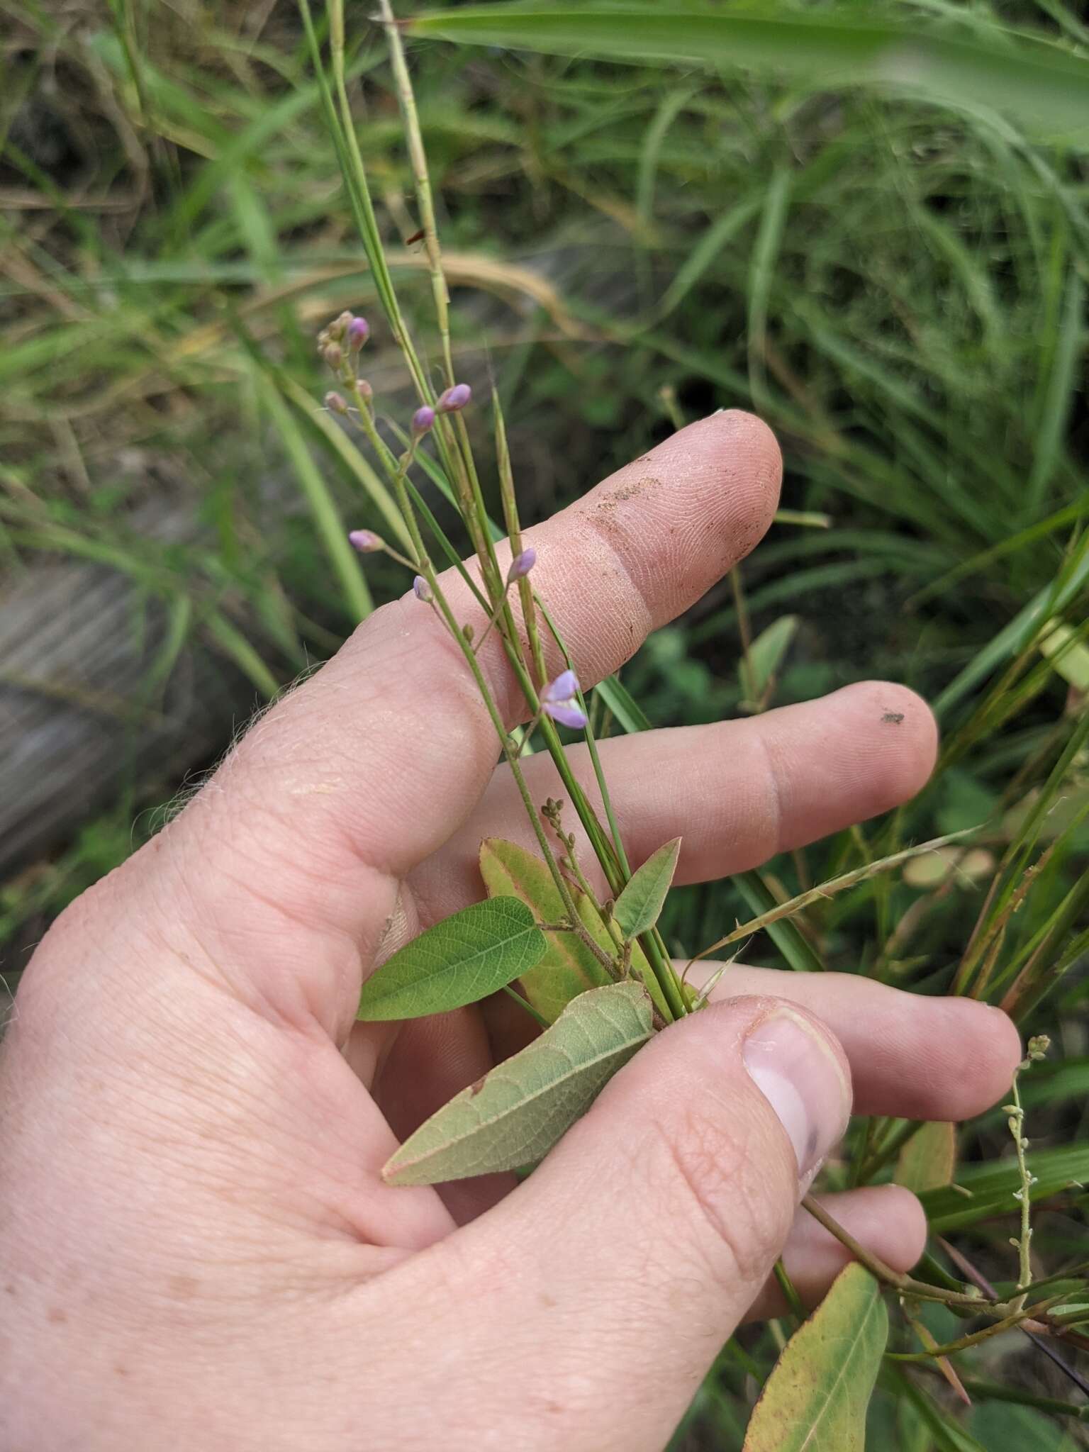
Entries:
MULTIPOLYGON (((529 531, 584 681, 756 543, 778 475, 764 425, 719 414, 529 531)), ((497 640, 481 659, 514 723, 497 640)), ((865 684, 603 754, 632 858, 682 835, 697 881, 905 800, 934 743, 918 697, 865 684)), ((505 1005, 354 1024, 376 958, 481 894, 481 838, 523 835, 495 756, 408 595, 48 934, 0 1072, 4 1448, 661 1448, 733 1327, 775 1308, 784 1246, 809 1300, 842 1265, 796 1208, 851 1080, 860 1114, 937 1119, 1008 1088, 995 1009, 730 968, 520 1186, 383 1185, 398 1140, 524 1031, 505 1005)), ((918 1257, 906 1191, 831 1208, 918 1257)))

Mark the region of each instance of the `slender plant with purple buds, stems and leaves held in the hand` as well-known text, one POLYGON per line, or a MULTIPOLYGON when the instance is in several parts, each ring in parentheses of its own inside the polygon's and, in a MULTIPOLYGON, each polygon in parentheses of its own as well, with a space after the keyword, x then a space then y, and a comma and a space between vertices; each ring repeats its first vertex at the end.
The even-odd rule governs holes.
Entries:
MULTIPOLYGON (((417 393, 415 408, 402 421, 402 427, 396 421, 388 424, 373 386, 362 376, 364 348, 376 331, 372 324, 346 311, 318 334, 318 353, 333 382, 324 396, 324 408, 340 421, 335 428, 343 425, 348 431, 347 437, 362 446, 363 452, 353 456, 353 468, 395 536, 391 542, 385 534, 360 527, 350 531, 348 540, 363 558, 385 553, 402 566, 407 576, 411 576, 411 591, 420 608, 433 613, 434 629, 446 632, 460 652, 466 678, 495 729, 497 754, 511 772, 537 847, 531 852, 502 839, 482 842, 479 865, 488 899, 423 932, 388 958, 362 990, 359 1016, 363 1019, 417 1018, 505 992, 540 1029, 499 1070, 485 1074, 434 1114, 385 1166, 383 1175, 389 1183, 423 1185, 531 1166, 592 1104, 608 1077, 655 1032, 706 1006, 713 980, 727 968, 711 968, 710 979, 704 976, 701 982, 696 970, 701 958, 732 944, 743 944, 752 934, 768 928, 781 935, 777 942, 784 944, 791 966, 820 967, 819 961, 812 961, 813 954, 804 939, 800 935, 790 937, 791 919, 802 909, 855 887, 912 857, 945 849, 963 833, 919 847, 896 845, 896 849, 880 858, 844 871, 794 897, 783 894, 784 900, 768 900, 762 883, 752 874, 745 874, 739 886, 755 916, 735 925, 710 947, 693 954, 687 963, 674 964, 659 929, 659 918, 677 873, 681 841, 664 844, 637 865, 627 857, 597 752, 592 711, 578 678, 579 664, 572 659, 555 630, 549 601, 537 588, 542 562, 536 547, 523 536, 504 417, 497 396, 491 398, 488 412, 495 444, 501 527, 492 521, 485 507, 468 423, 476 415, 476 428, 482 411, 470 385, 457 378, 453 366, 449 298, 427 157, 402 35, 389 0, 380 0, 380 19, 389 44, 427 256, 439 337, 434 375, 424 366, 401 311, 356 141, 344 78, 343 0, 333 0, 328 7, 328 73, 309 0, 301 0, 301 13, 330 135, 375 290, 385 312, 385 328, 401 348, 417 393), (434 482, 457 510, 470 544, 472 568, 463 563, 456 543, 430 510, 421 492, 420 475, 434 482), (452 566, 453 574, 443 574, 437 562, 452 566), (459 582, 456 592, 444 582, 450 579, 459 582), (524 723, 521 726, 513 727, 504 717, 482 664, 484 648, 494 650, 497 643, 521 697, 520 709, 514 713, 524 723), (595 797, 601 803, 600 812, 579 780, 560 727, 585 743, 595 797), (549 797, 539 803, 533 799, 521 762, 534 742, 547 751, 555 764, 565 793, 562 800, 549 797)), ((354 443, 338 440, 337 447, 354 449, 354 443)), ((759 709, 767 696, 768 674, 755 671, 746 648, 743 677, 749 680, 752 709, 759 709)), ((604 682, 598 690, 623 720, 624 696, 619 682, 604 682)), ((1040 810, 1043 813, 1044 807, 1040 810)), ((1002 894, 989 900, 986 922, 966 953, 958 984, 961 990, 968 990, 973 982, 986 983, 995 971, 1005 921, 1015 909, 1016 886, 1011 876, 1002 894)), ((1008 977, 1021 971, 1011 992, 1037 992, 1038 976, 1032 977, 1035 961, 1025 958, 1025 964, 1018 963, 1008 970, 1008 977)), ((828 1340, 812 1330, 819 1318, 823 1318, 820 1324, 836 1327, 836 1336, 841 1336, 839 1329, 848 1329, 842 1334, 855 1337, 852 1355, 858 1356, 858 1372, 848 1388, 851 1395, 844 1407, 844 1417, 848 1419, 842 1423, 845 1427, 858 1423, 860 1404, 864 1413, 886 1347, 889 1323, 876 1282, 899 1297, 912 1327, 921 1327, 915 1310, 922 1301, 942 1302, 955 1314, 983 1318, 982 1330, 970 1330, 945 1346, 937 1346, 932 1337, 926 1340, 929 1333, 919 1330, 922 1349, 897 1353, 902 1361, 926 1361, 945 1368, 944 1358, 953 1352, 1016 1326, 1066 1336, 1079 1345, 1085 1340, 1077 1330, 1079 1324, 1089 1326, 1089 1304, 1085 1298, 1079 1300, 1079 1292, 1072 1292, 1069 1286, 1061 1294, 1040 1295, 1041 1286, 1032 1285, 1028 1260, 1032 1180, 1024 1162, 1027 1141, 1022 1121, 1024 1112, 1015 1096, 1011 1128, 1021 1167, 1021 1191, 1016 1196, 1021 1236, 1016 1241, 1018 1278, 1009 1297, 1002 1297, 989 1286, 982 1288, 974 1278, 973 1284, 961 1284, 934 1265, 923 1272, 922 1279, 902 1275, 852 1240, 817 1201, 804 1201, 809 1211, 852 1252, 864 1269, 855 1265, 844 1272, 813 1321, 806 1323, 802 1333, 804 1342, 799 1340, 797 1347, 796 1342, 787 1346, 784 1363, 788 1359, 793 1365, 799 1356, 822 1355, 819 1347, 826 1347, 828 1340), (1061 1318, 1056 1313, 1060 1301, 1061 1318)), ((865 1183, 878 1173, 903 1149, 913 1128, 878 1124, 867 1133, 855 1166, 855 1182, 865 1183)), ((788 1304, 797 1308, 799 1301, 786 1272, 780 1268, 778 1273, 788 1304)), ((831 1353, 825 1349, 823 1355, 831 1353)), ((787 1374, 793 1375, 790 1365, 787 1374)), ((890 1369, 892 1374, 902 1375, 894 1368, 890 1369)), ((765 1408, 761 1417, 768 1424, 775 1419, 775 1397, 788 1395, 781 1390, 775 1391, 775 1387, 777 1378, 772 1374, 761 1403, 765 1408)), ((764 1436, 761 1424, 759 1419, 754 1419, 754 1448, 765 1445, 758 1440, 764 1436)))

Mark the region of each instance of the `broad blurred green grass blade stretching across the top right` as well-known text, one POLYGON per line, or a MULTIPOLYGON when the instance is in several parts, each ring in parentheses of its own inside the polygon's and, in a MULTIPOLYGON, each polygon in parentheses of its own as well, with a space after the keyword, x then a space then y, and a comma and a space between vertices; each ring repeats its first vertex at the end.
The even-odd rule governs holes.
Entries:
POLYGON ((1082 144, 1089 128, 1089 64, 1082 57, 1008 32, 984 42, 918 19, 870 19, 855 6, 822 16, 774 6, 755 16, 678 6, 489 4, 434 10, 408 20, 407 29, 550 55, 771 71, 812 90, 877 86, 957 109, 993 107, 1037 132, 1082 144))

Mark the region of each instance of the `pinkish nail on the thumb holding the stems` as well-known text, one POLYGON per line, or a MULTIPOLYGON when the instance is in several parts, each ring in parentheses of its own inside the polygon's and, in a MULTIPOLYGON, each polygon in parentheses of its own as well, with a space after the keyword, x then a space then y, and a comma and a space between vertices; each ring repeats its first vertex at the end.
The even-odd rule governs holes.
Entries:
POLYGON ((799 1176, 823 1160, 847 1128, 851 1085, 835 1050, 804 1018, 777 1009, 742 1050, 749 1077, 790 1135, 799 1176))

